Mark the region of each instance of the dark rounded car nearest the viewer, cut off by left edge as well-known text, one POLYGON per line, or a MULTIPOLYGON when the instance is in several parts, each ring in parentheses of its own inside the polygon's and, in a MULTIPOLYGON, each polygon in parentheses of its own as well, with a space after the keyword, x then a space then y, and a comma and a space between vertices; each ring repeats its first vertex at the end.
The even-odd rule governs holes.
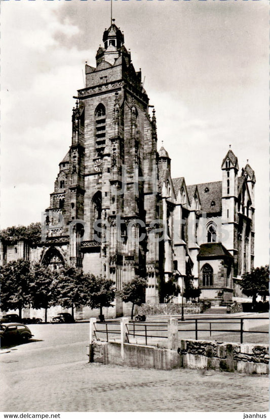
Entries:
POLYGON ((30 329, 21 323, 2 323, 0 325, 1 346, 7 343, 27 342, 32 336, 30 329))

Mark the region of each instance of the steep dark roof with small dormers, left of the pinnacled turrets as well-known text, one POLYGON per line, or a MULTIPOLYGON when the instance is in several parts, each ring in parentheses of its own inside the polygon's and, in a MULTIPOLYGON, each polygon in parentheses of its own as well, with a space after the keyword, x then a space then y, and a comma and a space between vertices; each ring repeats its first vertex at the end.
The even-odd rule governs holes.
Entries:
POLYGON ((210 213, 221 212, 222 181, 199 183, 198 185, 187 186, 190 202, 195 194, 196 186, 198 187, 201 210, 210 213), (213 203, 215 203, 215 205, 213 205, 213 203))

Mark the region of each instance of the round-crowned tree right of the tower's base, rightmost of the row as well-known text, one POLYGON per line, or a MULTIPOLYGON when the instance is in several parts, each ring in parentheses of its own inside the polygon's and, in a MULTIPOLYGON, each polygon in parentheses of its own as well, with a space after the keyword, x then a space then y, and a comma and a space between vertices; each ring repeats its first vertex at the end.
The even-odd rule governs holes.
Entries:
POLYGON ((135 276, 131 281, 124 283, 122 289, 117 292, 125 303, 132 303, 131 319, 133 319, 135 304, 140 306, 145 301, 146 285, 146 279, 135 276))

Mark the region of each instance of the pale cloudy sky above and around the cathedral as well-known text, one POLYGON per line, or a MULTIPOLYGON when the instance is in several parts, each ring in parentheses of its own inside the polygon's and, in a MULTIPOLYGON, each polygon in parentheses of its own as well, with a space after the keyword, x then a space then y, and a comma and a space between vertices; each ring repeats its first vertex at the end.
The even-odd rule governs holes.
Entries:
MULTIPOLYGON (((172 177, 221 180, 232 145, 255 170, 255 266, 268 263, 267 0, 112 0, 155 105, 172 177)), ((1 2, 1 228, 40 221, 71 111, 110 25, 107 0, 1 2)))

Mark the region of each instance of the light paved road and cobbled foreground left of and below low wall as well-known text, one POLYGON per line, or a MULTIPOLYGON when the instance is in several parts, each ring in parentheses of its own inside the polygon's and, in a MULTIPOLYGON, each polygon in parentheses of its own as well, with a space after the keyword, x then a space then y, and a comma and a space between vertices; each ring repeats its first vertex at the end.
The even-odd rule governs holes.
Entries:
POLYGON ((1 410, 268 411, 266 376, 89 364, 88 328, 33 325, 40 340, 1 353, 1 410))

